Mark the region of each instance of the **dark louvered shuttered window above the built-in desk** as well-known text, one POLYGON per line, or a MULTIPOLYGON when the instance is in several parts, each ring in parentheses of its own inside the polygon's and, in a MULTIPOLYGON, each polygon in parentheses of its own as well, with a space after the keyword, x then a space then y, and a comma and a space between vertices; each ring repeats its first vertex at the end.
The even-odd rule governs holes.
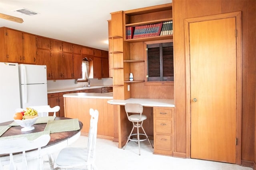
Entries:
POLYGON ((174 81, 173 43, 147 45, 148 81, 174 81))

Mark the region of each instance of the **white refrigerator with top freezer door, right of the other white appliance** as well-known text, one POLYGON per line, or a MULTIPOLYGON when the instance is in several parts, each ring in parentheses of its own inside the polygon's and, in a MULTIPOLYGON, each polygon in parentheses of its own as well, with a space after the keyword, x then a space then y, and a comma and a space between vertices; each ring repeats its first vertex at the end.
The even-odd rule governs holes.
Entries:
POLYGON ((21 107, 48 105, 46 65, 19 64, 21 107))

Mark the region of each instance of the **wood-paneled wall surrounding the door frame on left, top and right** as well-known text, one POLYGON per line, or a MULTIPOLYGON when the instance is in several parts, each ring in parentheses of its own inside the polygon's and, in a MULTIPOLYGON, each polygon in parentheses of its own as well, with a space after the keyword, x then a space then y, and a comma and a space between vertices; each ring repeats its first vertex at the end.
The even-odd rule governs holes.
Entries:
MULTIPOLYGON (((252 139, 255 128, 255 48, 248 48, 255 42, 255 1, 195 1, 174 0, 174 63, 175 63, 175 152, 186 152, 189 144, 185 144, 184 124, 185 114, 185 62, 184 62, 184 19, 208 16, 228 12, 242 11, 242 162, 253 161, 252 139), (249 28, 249 23, 251 23, 249 28), (254 74, 254 75, 252 75, 254 74), (252 78, 251 78, 252 76, 252 78), (253 92, 253 93, 252 93, 253 92), (253 94, 253 95, 252 95, 253 94), (184 147, 184 144, 186 147, 184 147)), ((174 156, 175 156, 174 152, 174 156)), ((187 152, 188 153, 188 152, 187 152)), ((187 157, 190 155, 186 154, 187 157)), ((243 163, 242 163, 243 164, 243 163)))

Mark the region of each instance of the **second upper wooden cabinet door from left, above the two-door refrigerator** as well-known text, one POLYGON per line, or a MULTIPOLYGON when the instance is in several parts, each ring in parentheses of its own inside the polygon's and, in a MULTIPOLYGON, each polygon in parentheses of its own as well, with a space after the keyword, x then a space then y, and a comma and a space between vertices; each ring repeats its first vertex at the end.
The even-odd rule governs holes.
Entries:
POLYGON ((36 64, 36 36, 23 33, 23 63, 36 64))

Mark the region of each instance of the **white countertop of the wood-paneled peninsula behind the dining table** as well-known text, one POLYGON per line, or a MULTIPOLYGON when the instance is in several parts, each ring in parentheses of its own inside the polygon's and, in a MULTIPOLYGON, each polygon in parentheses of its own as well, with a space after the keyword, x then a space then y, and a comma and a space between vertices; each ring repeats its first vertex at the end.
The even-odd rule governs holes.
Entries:
POLYGON ((64 94, 64 98, 97 98, 97 99, 113 99, 113 92, 109 93, 69 93, 64 94))

